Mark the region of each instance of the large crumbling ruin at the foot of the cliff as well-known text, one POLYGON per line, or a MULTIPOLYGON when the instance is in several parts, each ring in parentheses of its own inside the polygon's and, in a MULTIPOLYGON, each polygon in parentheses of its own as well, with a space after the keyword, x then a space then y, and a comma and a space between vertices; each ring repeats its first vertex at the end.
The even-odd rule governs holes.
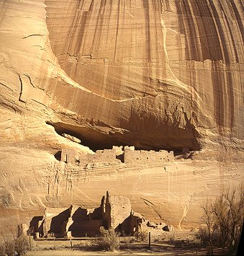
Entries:
POLYGON ((140 213, 132 210, 128 198, 111 195, 107 191, 98 208, 70 206, 68 208, 45 208, 43 216, 35 216, 27 231, 39 237, 94 237, 99 228, 114 229, 133 235, 142 229, 164 230, 166 225, 153 225, 140 213))

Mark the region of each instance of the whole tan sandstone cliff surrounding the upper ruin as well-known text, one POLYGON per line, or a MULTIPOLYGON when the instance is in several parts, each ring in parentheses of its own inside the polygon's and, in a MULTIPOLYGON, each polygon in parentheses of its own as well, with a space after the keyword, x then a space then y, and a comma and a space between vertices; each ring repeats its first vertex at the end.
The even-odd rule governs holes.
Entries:
POLYGON ((196 224, 207 195, 243 182, 243 17, 241 0, 1 1, 0 226, 104 190, 196 224), (74 173, 54 156, 120 144, 202 150, 166 170, 74 173))

